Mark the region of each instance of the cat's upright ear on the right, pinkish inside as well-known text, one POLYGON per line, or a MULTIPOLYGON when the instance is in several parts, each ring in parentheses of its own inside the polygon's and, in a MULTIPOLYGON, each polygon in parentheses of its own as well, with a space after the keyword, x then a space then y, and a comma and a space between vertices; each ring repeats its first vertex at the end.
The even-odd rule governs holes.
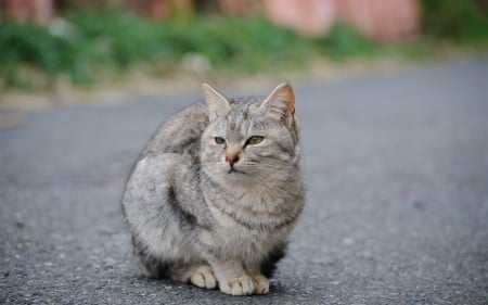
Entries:
POLYGON ((281 118, 290 128, 295 116, 295 93, 290 84, 282 82, 278 85, 260 107, 270 106, 280 112, 281 118))

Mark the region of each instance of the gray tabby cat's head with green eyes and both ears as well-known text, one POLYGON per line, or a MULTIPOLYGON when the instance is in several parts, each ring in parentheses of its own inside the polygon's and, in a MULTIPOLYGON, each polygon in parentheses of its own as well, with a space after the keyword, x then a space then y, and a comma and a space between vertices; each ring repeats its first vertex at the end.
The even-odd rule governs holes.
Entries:
POLYGON ((227 99, 202 86, 209 125, 202 136, 203 169, 214 179, 256 182, 297 166, 295 98, 283 82, 267 98, 227 99))

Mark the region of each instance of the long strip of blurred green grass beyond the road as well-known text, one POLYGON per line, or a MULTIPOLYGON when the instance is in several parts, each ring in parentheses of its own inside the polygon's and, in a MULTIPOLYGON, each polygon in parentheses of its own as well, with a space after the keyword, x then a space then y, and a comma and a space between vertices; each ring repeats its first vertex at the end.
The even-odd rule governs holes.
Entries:
POLYGON ((49 89, 60 78, 92 85, 134 66, 165 76, 181 67, 189 54, 197 54, 214 71, 241 75, 298 69, 318 58, 424 56, 437 40, 488 46, 487 17, 471 4, 422 3, 425 36, 401 45, 375 42, 345 23, 335 24, 328 37, 305 37, 260 16, 155 22, 121 9, 97 9, 66 12, 49 27, 2 20, 0 89, 49 89))

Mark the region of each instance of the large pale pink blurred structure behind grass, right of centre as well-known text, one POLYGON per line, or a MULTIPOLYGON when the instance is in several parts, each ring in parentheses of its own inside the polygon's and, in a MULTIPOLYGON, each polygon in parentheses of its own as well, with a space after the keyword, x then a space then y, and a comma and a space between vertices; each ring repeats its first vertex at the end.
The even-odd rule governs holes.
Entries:
POLYGON ((308 35, 326 35, 337 18, 381 40, 399 40, 419 30, 418 0, 264 0, 278 24, 308 35))

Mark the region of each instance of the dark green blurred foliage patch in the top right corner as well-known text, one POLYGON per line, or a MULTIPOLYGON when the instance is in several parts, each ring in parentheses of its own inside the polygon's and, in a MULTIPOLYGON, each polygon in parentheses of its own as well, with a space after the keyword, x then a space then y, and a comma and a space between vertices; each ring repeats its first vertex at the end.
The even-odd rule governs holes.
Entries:
POLYGON ((488 42, 488 15, 475 0, 422 0, 427 36, 454 42, 488 42))

